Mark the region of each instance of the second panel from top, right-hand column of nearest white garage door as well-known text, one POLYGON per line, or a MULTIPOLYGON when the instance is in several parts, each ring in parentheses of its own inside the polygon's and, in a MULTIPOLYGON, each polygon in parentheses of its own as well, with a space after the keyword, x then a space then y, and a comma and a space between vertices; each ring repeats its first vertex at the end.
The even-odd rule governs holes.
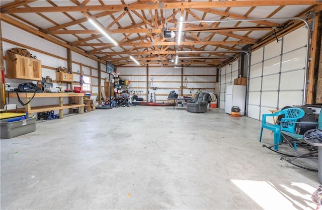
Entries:
POLYGON ((292 52, 283 54, 282 57, 282 72, 302 69, 305 67, 306 48, 300 48, 292 52))

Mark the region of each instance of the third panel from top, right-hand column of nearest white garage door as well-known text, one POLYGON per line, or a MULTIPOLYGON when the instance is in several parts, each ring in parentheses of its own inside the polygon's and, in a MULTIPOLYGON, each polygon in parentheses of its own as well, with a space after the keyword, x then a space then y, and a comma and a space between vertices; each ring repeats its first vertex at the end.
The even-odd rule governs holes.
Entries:
POLYGON ((304 69, 281 74, 281 90, 301 90, 304 85, 304 69))

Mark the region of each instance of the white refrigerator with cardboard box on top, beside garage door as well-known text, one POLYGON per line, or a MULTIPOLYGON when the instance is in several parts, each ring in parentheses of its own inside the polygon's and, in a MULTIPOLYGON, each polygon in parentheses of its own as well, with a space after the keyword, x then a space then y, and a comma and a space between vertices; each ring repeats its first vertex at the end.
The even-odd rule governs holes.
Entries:
POLYGON ((227 85, 225 112, 231 113, 232 107, 239 107, 240 115, 245 115, 246 85, 227 85))

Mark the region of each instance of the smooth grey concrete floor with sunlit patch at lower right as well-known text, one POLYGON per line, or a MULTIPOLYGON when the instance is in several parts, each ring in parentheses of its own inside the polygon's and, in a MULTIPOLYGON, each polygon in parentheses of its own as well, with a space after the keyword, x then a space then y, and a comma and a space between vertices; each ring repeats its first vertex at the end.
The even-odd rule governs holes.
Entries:
POLYGON ((37 122, 1 139, 1 209, 315 209, 317 172, 263 148, 260 128, 141 106, 37 122))

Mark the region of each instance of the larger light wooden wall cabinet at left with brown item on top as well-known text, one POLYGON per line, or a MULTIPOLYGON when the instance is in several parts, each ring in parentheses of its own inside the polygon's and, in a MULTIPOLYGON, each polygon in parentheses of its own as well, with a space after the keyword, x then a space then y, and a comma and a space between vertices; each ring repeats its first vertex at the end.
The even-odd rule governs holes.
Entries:
POLYGON ((7 77, 13 79, 42 80, 41 60, 15 54, 17 60, 12 60, 7 53, 7 77))

